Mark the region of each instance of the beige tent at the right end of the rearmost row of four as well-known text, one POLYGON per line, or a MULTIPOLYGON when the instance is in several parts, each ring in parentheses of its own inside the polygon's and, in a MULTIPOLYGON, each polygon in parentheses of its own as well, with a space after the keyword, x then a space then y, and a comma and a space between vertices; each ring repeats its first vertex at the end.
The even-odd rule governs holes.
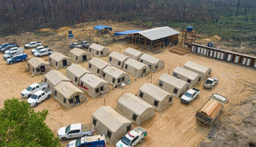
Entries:
POLYGON ((108 48, 99 44, 91 44, 89 46, 89 53, 94 57, 102 57, 110 54, 108 48))

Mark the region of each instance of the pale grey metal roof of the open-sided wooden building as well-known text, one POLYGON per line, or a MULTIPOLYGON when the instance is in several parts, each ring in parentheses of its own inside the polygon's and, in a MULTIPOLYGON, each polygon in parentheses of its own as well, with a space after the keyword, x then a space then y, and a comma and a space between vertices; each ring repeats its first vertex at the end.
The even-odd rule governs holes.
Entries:
MULTIPOLYGON (((143 30, 140 32, 135 32, 135 33, 138 33, 150 40, 157 40, 160 38, 165 38, 168 36, 179 34, 180 32, 178 32, 168 26, 165 26, 165 27, 160 27, 160 28, 152 28, 149 30, 143 30)), ((130 33, 130 34, 135 34, 135 33, 130 33)))

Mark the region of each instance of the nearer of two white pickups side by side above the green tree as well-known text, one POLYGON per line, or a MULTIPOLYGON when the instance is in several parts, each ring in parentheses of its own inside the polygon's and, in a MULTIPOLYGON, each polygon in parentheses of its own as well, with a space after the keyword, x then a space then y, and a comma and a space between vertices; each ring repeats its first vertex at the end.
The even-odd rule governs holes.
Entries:
POLYGON ((52 89, 45 88, 43 90, 39 90, 34 93, 27 102, 30 104, 30 107, 36 107, 38 103, 45 101, 46 99, 50 99, 52 95, 52 89))

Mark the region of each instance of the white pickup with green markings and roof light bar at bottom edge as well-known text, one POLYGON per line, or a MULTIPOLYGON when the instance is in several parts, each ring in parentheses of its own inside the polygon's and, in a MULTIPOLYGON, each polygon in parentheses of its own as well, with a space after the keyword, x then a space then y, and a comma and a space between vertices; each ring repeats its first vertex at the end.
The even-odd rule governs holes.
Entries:
POLYGON ((147 135, 147 131, 142 127, 136 127, 134 130, 124 135, 117 143, 115 147, 134 147, 138 143, 142 143, 144 137, 147 135))

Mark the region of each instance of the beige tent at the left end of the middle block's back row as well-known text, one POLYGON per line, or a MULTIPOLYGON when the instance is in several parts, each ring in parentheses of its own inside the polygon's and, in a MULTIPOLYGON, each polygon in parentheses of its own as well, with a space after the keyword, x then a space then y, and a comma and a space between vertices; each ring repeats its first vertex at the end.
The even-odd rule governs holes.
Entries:
POLYGON ((61 81, 70 81, 70 79, 57 70, 51 70, 44 75, 44 81, 48 83, 50 89, 54 90, 54 86, 58 83, 61 81))

